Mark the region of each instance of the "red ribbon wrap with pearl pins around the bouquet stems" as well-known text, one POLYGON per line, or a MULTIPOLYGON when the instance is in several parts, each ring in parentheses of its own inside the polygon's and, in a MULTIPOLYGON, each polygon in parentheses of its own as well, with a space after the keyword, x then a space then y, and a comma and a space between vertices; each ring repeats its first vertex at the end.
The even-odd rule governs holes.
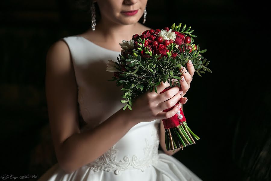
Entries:
MULTIPOLYGON (((163 92, 169 90, 171 87, 164 89, 162 92, 160 92, 160 94, 162 94, 163 92)), ((179 103, 175 104, 175 105, 179 105, 179 103)), ((163 112, 167 112, 169 110, 172 110, 174 108, 174 106, 163 110, 163 112)), ((186 121, 185 116, 182 112, 182 107, 180 108, 181 114, 182 114, 182 119, 178 118, 178 115, 175 114, 174 116, 172 116, 171 118, 168 119, 162 119, 163 123, 164 123, 164 128, 168 129, 168 128, 174 128, 177 127, 178 125, 182 125, 182 122, 186 121)))

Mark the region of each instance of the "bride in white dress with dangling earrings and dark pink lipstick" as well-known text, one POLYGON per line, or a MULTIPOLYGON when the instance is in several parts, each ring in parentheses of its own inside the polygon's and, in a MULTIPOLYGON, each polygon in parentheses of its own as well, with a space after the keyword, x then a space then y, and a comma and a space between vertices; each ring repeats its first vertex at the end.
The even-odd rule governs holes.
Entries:
POLYGON ((183 96, 195 72, 192 63, 187 63, 181 87, 159 94, 170 86, 162 81, 158 94, 147 91, 135 99, 132 111, 122 110, 122 90, 108 81, 113 74, 106 71, 107 60, 117 61, 121 40, 151 29, 143 25, 147 0, 90 4, 92 28, 58 40, 47 53, 46 97, 58 163, 39 180, 201 180, 171 156, 180 149, 166 150, 162 122, 187 102, 183 96), (96 12, 101 16, 97 24, 96 12), (143 24, 138 22, 142 15, 143 24), (159 144, 163 151, 158 151, 159 144))

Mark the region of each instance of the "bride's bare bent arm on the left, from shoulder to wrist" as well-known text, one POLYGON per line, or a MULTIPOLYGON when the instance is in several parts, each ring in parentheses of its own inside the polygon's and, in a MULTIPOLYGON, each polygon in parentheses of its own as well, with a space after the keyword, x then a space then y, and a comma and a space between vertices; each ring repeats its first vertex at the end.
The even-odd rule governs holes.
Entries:
POLYGON ((137 124, 128 119, 128 109, 120 109, 95 129, 80 132, 77 84, 70 51, 64 41, 54 43, 48 50, 45 79, 55 153, 67 173, 100 157, 137 124))

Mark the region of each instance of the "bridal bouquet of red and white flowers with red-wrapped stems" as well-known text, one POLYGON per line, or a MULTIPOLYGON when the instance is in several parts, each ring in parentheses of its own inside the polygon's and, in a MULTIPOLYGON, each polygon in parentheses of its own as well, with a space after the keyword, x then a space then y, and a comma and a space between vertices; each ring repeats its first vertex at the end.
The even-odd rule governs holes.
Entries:
MULTIPOLYGON (((180 87, 179 81, 173 80, 173 83, 171 79, 181 79, 180 76, 185 73, 182 67, 186 67, 188 60, 192 61, 199 76, 205 71, 211 72, 206 67, 209 61, 199 54, 207 50, 200 50, 200 46, 194 43, 196 36, 192 32, 191 27, 186 28, 181 23, 175 26, 174 23, 171 28, 146 30, 141 35, 133 35, 129 41, 122 40, 118 62, 108 60, 107 71, 114 72, 113 79, 109 81, 116 81, 117 86, 123 85, 121 90, 125 100, 121 102, 126 104, 123 110, 127 107, 132 110, 133 100, 145 91, 154 90, 157 93, 161 81, 170 83, 170 87, 161 93, 176 84, 180 87)), ((167 150, 183 149, 200 139, 189 129, 182 108, 171 118, 163 119, 163 123, 167 150)))

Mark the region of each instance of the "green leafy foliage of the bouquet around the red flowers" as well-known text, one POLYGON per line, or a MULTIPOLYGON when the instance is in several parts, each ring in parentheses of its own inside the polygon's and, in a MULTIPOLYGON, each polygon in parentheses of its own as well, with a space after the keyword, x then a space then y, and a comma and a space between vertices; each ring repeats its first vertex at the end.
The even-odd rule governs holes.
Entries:
MULTIPOLYGON (((192 44, 194 42, 193 37, 196 37, 191 34, 193 30, 191 30, 191 27, 186 28, 186 25, 182 27, 181 25, 181 23, 179 25, 173 24, 171 28, 180 33, 184 33, 186 36, 190 35, 192 44)), ((180 50, 175 47, 175 43, 170 43, 170 45, 167 46, 167 49, 169 49, 167 56, 161 57, 161 55, 152 55, 152 51, 149 51, 149 47, 144 46, 145 39, 139 38, 137 42, 141 43, 140 48, 132 49, 132 55, 126 54, 128 58, 124 58, 120 55, 120 58, 117 58, 118 62, 116 62, 116 68, 121 72, 120 78, 113 77, 113 79, 109 80, 116 81, 117 86, 123 85, 121 90, 123 90, 122 97, 125 98, 125 100, 121 100, 121 102, 126 103, 123 110, 127 107, 132 110, 133 100, 146 91, 152 92, 154 90, 158 94, 157 86, 162 81, 164 83, 166 81, 169 82, 170 86, 172 86, 173 82, 174 85, 180 86, 180 77, 185 73, 180 69, 181 67, 186 67, 188 60, 192 61, 195 71, 200 77, 201 73, 205 74, 205 71, 212 72, 207 68, 209 61, 206 61, 203 56, 199 55, 199 53, 204 53, 207 50, 204 49, 200 51, 199 45, 197 45, 197 50, 189 53, 187 46, 182 44, 180 45, 181 49, 185 49, 185 51, 181 53, 180 50), (142 50, 150 57, 143 57, 141 54, 142 50), (177 53, 175 59, 171 57, 173 52, 177 53), (122 72, 122 66, 124 66, 127 71, 122 72), (178 81, 172 81, 172 79, 177 79, 178 81)))

